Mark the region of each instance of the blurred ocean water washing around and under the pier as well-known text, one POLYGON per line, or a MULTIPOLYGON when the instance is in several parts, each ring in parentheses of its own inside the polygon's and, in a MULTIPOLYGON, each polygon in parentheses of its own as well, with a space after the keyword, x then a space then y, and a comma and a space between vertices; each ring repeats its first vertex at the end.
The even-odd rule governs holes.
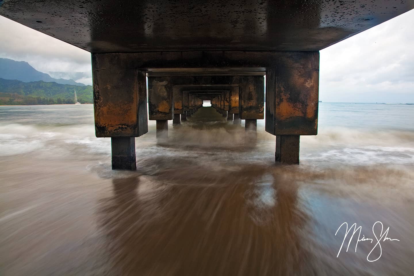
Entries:
POLYGON ((264 125, 149 121, 113 171, 92 105, 0 106, 0 275, 412 275, 414 105, 319 103, 293 166, 264 125))

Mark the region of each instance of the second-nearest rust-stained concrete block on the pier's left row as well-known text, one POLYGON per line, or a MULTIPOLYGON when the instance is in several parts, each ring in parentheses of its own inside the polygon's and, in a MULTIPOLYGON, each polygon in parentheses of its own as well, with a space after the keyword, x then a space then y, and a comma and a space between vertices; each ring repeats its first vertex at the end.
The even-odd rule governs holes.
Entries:
POLYGON ((174 118, 173 86, 164 78, 148 78, 149 120, 174 118))

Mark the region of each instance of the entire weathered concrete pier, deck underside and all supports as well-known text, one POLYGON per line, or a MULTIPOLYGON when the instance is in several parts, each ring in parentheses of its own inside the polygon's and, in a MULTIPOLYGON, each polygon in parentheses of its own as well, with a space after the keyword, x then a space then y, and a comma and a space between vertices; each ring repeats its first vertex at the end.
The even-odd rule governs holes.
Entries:
POLYGON ((246 130, 265 119, 275 162, 298 164, 300 136, 318 134, 319 50, 413 8, 414 0, 28 0, 1 1, 0 15, 91 53, 96 137, 111 137, 113 169, 134 170, 148 119, 168 140, 168 120, 185 122, 203 101, 246 130))

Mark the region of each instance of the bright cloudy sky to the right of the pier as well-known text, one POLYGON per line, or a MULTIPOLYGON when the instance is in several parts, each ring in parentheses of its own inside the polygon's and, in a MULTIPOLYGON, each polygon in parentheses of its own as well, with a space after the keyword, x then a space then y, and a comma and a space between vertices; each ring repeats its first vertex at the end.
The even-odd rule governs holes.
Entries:
POLYGON ((414 102, 414 10, 320 51, 320 99, 414 102))

